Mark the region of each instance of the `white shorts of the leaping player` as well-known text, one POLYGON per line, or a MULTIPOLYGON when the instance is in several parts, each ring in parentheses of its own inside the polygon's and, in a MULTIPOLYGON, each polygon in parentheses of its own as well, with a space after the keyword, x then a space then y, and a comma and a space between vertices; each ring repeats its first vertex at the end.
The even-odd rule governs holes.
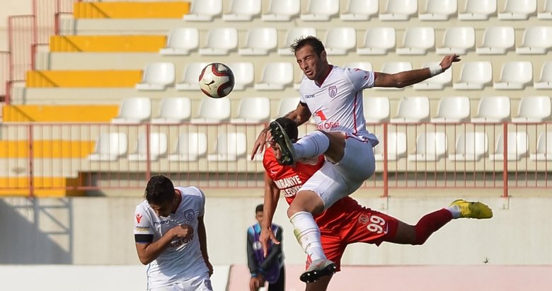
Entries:
POLYGON ((324 210, 335 201, 360 188, 376 170, 372 143, 362 137, 347 135, 345 154, 337 164, 326 160, 322 168, 307 180, 300 190, 317 193, 324 202, 324 210))

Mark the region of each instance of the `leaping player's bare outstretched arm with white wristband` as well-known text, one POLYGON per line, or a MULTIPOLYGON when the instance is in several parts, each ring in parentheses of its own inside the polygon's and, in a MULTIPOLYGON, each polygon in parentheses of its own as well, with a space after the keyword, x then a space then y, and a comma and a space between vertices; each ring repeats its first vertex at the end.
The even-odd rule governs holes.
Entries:
POLYGON ((404 88, 421 81, 430 79, 432 76, 441 74, 452 66, 454 62, 460 62, 460 57, 456 54, 445 56, 441 63, 435 67, 413 69, 410 71, 398 72, 396 74, 386 74, 374 72, 374 87, 404 88))

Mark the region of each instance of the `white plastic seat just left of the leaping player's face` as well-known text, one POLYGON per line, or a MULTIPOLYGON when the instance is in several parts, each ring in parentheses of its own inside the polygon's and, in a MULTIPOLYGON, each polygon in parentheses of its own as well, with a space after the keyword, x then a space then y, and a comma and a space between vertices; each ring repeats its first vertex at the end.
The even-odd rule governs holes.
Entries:
POLYGON ((268 62, 263 68, 263 78, 255 84, 255 90, 284 90, 293 83, 291 62, 268 62))

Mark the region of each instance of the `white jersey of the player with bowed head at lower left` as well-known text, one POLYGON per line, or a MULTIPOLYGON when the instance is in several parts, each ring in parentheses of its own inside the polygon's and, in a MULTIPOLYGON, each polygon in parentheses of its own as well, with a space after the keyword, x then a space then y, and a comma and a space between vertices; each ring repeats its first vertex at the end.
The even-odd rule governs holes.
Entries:
POLYGON ((178 224, 190 224, 192 239, 175 239, 159 257, 147 266, 148 289, 176 283, 207 273, 197 236, 197 217, 205 212, 205 195, 196 187, 176 187, 182 200, 174 214, 159 217, 144 200, 134 212, 134 234, 153 234, 159 240, 168 229, 178 224))

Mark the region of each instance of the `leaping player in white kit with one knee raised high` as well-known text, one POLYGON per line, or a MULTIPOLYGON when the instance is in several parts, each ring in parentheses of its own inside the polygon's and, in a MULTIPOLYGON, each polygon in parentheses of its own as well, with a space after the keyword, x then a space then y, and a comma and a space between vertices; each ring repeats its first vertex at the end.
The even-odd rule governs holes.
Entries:
MULTIPOLYGON (((301 125, 314 115, 318 130, 292 143, 277 122, 270 122, 255 141, 251 159, 265 147, 266 142, 271 142, 276 143, 282 152, 279 160, 282 165, 292 165, 299 159, 322 154, 329 161, 304 183, 287 210, 297 241, 312 259, 311 265, 300 277, 309 283, 335 270, 335 264, 324 255, 320 231, 313 215, 355 192, 374 173, 372 147, 379 141, 366 130, 362 90, 410 86, 444 72, 460 59, 454 54, 447 55, 435 67, 385 74, 329 64, 323 43, 312 36, 297 40, 292 45, 292 51, 305 77, 299 87, 300 102, 285 117, 301 125), (272 137, 267 135, 269 130, 272 137)), ((473 218, 492 216, 492 211, 483 203, 467 206, 476 213, 473 218)), ((270 239, 276 241, 272 236, 270 239)))

